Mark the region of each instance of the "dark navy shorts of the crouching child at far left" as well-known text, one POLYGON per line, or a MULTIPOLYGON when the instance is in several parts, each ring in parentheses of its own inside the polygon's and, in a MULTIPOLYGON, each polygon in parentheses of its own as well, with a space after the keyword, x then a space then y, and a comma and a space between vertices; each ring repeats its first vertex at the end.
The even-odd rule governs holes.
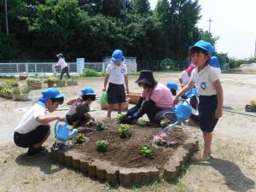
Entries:
POLYGON ((15 131, 15 144, 21 148, 32 147, 34 144, 42 142, 48 131, 48 125, 39 125, 35 130, 24 134, 15 131))

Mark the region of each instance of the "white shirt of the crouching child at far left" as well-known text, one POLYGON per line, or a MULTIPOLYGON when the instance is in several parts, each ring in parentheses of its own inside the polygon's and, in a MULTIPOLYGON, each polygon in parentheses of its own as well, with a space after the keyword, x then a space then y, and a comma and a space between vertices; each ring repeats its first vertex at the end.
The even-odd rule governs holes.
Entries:
MULTIPOLYGON (((38 122, 38 116, 45 116, 45 106, 35 104, 29 109, 20 119, 19 124, 16 126, 15 131, 24 134, 35 130, 39 125, 45 125, 38 122)), ((47 125, 47 124, 46 124, 47 125)))

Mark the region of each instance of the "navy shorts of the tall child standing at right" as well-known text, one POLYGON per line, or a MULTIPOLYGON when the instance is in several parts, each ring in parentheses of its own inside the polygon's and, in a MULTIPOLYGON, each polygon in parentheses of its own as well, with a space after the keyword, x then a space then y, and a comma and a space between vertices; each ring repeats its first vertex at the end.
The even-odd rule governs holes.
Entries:
POLYGON ((217 96, 199 96, 198 125, 201 131, 212 132, 218 119, 215 118, 215 111, 218 107, 217 96))

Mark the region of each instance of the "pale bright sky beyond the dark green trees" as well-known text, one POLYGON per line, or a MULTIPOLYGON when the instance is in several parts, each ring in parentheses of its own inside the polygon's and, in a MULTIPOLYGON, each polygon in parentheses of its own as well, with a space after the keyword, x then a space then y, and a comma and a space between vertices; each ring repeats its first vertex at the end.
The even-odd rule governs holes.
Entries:
MULTIPOLYGON (((157 0, 148 0, 154 9, 157 0)), ((255 0, 199 0, 201 20, 198 26, 209 29, 218 36, 216 49, 239 59, 254 55, 256 41, 256 1, 255 0)))

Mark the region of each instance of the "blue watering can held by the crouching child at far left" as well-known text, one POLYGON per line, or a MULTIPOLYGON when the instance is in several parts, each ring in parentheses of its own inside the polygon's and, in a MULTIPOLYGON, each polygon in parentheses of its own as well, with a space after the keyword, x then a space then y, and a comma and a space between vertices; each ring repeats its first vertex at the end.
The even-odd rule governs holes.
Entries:
POLYGON ((61 142, 67 142, 69 137, 78 134, 77 129, 73 129, 73 131, 69 131, 67 121, 65 125, 59 125, 60 120, 57 120, 55 123, 55 138, 60 140, 61 142))

